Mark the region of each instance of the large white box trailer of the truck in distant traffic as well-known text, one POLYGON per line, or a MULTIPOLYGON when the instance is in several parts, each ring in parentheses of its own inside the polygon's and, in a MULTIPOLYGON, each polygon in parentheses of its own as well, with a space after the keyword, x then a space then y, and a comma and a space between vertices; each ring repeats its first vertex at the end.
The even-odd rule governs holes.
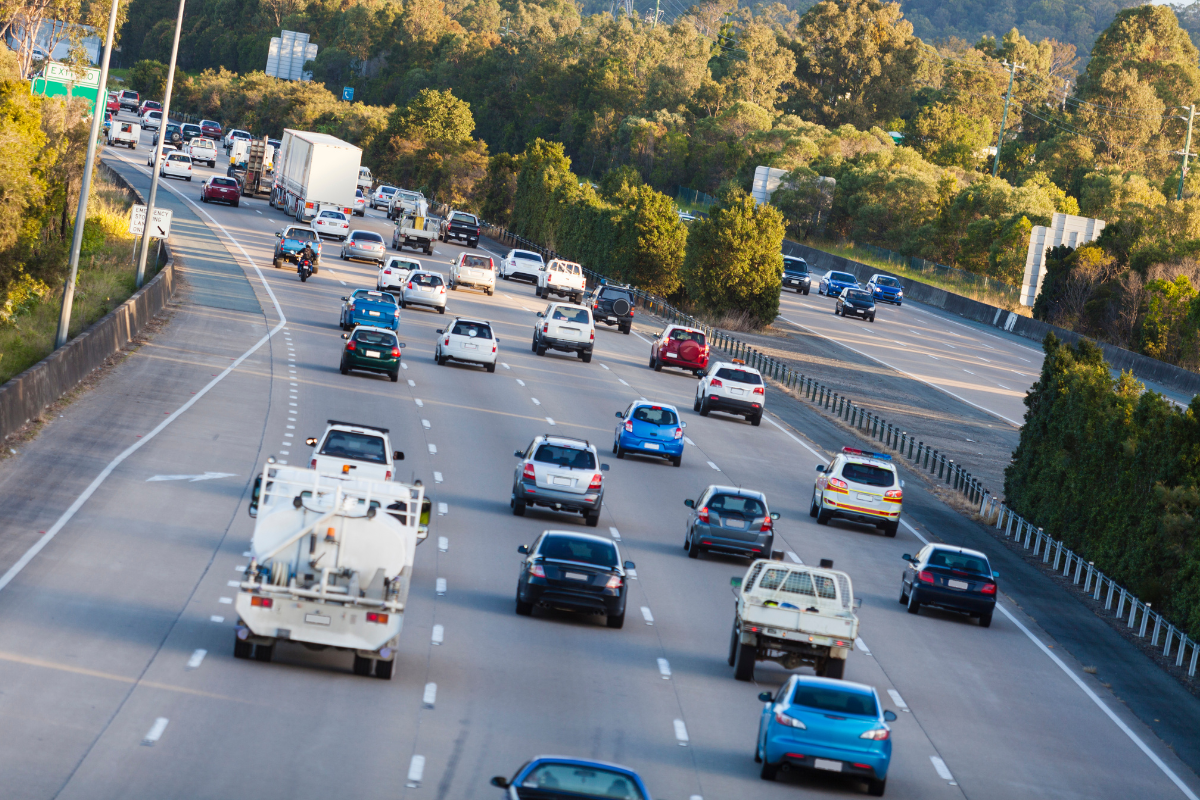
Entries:
POLYGON ((361 157, 360 149, 337 137, 284 128, 275 154, 271 205, 300 223, 317 216, 320 206, 352 215, 361 157))

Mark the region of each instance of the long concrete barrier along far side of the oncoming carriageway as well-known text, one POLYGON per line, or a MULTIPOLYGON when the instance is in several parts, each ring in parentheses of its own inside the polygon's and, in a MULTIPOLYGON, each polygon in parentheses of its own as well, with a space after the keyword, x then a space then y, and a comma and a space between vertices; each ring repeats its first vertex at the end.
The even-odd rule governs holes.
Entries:
MULTIPOLYGON (((815 273, 839 270, 852 273, 862 283, 866 283, 872 275, 890 275, 900 281, 900 284, 904 287, 905 300, 941 308, 964 319, 998 327, 1002 331, 1015 333, 1038 344, 1042 343, 1046 333, 1054 333, 1063 342, 1070 342, 1072 344, 1078 343, 1080 339, 1090 338, 1075 331, 1058 327, 1057 325, 1022 317, 1007 308, 998 308, 985 302, 979 302, 978 300, 971 300, 970 297, 931 287, 928 283, 920 283, 919 281, 913 281, 912 278, 906 278, 887 270, 863 264, 862 261, 826 253, 824 251, 815 249, 799 242, 785 240, 784 254, 803 258, 809 263, 809 267, 815 273)), ((1094 339, 1092 341, 1094 342, 1094 339)), ((1200 393, 1200 374, 1139 353, 1132 353, 1115 344, 1105 342, 1096 342, 1096 344, 1104 351, 1104 357, 1114 369, 1132 372, 1138 380, 1158 384, 1164 389, 1188 395, 1200 393)))

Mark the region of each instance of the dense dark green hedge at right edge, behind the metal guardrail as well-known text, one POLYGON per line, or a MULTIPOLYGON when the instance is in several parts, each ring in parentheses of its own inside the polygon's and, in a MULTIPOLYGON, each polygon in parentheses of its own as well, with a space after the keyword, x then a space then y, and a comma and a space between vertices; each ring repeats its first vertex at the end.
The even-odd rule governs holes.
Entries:
POLYGON ((1045 341, 1007 501, 1200 634, 1200 399, 1174 408, 1100 349, 1045 341))

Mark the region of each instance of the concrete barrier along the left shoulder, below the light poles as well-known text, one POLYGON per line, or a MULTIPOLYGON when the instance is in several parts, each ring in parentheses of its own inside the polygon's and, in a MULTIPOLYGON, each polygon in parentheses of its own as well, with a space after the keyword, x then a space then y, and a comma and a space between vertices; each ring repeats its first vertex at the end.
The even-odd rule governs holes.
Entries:
MULTIPOLYGON (((142 194, 103 163, 100 169, 144 203, 142 194)), ((166 264, 138 291, 46 359, 0 384, 0 441, 20 429, 128 344, 175 294, 175 259, 164 246, 166 264)))

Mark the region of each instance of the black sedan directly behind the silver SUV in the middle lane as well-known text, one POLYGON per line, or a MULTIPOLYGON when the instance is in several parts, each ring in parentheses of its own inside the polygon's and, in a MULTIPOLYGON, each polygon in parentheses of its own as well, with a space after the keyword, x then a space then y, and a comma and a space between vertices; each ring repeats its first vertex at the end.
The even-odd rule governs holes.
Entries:
POLYGON ((625 624, 625 570, 616 542, 602 536, 565 530, 542 531, 532 547, 517 548, 527 558, 517 579, 517 613, 534 606, 602 614, 608 627, 625 624))

